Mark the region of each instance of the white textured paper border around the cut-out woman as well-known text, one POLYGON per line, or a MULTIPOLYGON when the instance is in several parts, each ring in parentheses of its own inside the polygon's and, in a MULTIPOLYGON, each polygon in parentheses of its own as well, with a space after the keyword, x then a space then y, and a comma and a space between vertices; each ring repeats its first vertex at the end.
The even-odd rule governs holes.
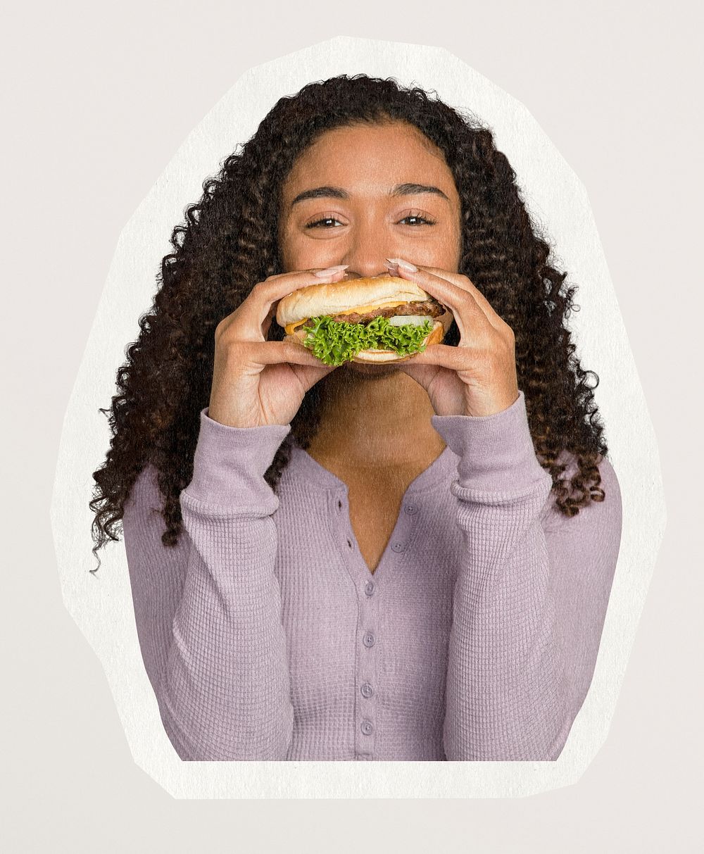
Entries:
POLYGON ((524 104, 449 50, 336 36, 249 68, 189 133, 120 232, 64 418, 51 526, 62 599, 103 664, 132 757, 174 797, 502 798, 574 785, 607 738, 665 518, 657 440, 584 184, 524 104), (103 551, 99 576, 89 572, 95 564, 86 496, 109 446, 108 424, 97 412, 114 395, 126 342, 149 308, 173 223, 200 196, 203 175, 232 150, 232 140, 249 139, 282 94, 360 68, 416 81, 488 122, 528 209, 559 247, 558 265, 571 283, 584 284, 570 328, 582 364, 601 377, 599 409, 624 532, 590 692, 554 763, 181 762, 144 670, 123 544, 103 551))

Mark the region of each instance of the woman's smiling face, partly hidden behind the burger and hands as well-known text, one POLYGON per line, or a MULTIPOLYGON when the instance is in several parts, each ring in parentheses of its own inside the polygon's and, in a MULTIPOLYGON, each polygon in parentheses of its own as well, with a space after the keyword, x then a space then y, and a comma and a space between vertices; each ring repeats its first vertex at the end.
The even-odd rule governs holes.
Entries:
MULTIPOLYGON (((347 277, 358 278, 388 275, 384 260, 403 258, 457 272, 460 214, 442 152, 414 126, 327 131, 297 158, 282 187, 283 269, 349 264, 347 277)), ((392 367, 346 365, 373 375, 392 367)))

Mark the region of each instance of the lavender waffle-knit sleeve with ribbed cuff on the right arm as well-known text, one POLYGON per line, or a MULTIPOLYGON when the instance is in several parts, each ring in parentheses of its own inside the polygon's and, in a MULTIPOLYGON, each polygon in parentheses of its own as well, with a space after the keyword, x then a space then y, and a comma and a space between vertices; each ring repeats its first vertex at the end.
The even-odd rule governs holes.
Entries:
POLYGON ((450 487, 463 554, 449 638, 445 756, 554 760, 594 673, 619 553, 618 481, 602 459, 603 502, 573 518, 550 510, 552 480, 534 452, 522 391, 495 415, 431 422, 460 457, 450 487))

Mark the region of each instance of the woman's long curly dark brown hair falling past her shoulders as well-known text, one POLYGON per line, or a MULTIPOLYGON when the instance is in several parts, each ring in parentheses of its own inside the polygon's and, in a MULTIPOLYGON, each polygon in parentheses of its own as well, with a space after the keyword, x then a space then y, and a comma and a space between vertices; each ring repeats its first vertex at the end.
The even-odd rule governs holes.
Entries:
MULTIPOLYGON (((599 378, 580 366, 566 326, 578 308, 572 301, 576 289, 566 287, 566 272, 549 263, 548 240, 531 221, 516 173, 490 129, 431 94, 366 74, 311 83, 280 98, 255 135, 204 182, 201 200, 186 208, 185 224, 173 229, 173 252, 161 260, 154 301, 117 372, 119 394, 109 410, 99 410, 109 417, 112 438, 93 473, 94 556, 118 539, 114 526, 149 463, 164 498, 161 540, 165 546, 178 541, 179 494, 191 482, 200 412, 208 406, 215 326, 257 282, 284 272, 276 239, 279 193, 296 157, 321 133, 359 122, 408 122, 443 151, 461 199, 459 272, 513 329, 519 388, 537 458, 553 478, 555 504, 572 517, 604 499, 597 465, 607 446, 593 394, 599 378), (578 464, 571 478, 563 477, 565 451, 578 464)), ((272 324, 268 339, 283 336, 272 324)), ((456 324, 444 342, 459 343, 456 324)), ((315 435, 319 401, 316 384, 266 472, 275 492, 291 443, 308 448, 315 435)))

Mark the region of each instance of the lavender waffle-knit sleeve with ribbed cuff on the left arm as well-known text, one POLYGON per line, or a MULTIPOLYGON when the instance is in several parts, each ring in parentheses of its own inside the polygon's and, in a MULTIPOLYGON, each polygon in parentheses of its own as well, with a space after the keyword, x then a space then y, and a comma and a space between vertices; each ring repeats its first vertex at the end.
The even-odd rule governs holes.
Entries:
POLYGON ((234 428, 201 412, 176 547, 161 543, 148 466, 123 517, 138 638, 167 735, 187 760, 281 760, 293 728, 279 499, 263 478, 290 425, 234 428))

